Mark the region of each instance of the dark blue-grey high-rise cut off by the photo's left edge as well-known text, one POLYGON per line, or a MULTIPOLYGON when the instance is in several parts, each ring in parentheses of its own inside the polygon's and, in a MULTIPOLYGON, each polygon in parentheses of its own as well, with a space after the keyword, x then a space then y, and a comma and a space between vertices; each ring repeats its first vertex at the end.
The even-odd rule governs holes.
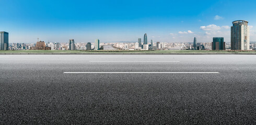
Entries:
POLYGON ((9 47, 9 33, 0 32, 0 50, 8 50, 9 47))

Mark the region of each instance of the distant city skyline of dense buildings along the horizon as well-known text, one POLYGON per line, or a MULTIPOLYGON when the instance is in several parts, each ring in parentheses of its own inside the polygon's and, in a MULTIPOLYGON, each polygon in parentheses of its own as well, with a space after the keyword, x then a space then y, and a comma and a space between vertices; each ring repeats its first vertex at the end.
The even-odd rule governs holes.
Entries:
MULTIPOLYGON (((248 21, 245 20, 236 20, 236 21, 232 21, 233 26, 231 27, 231 40, 233 42, 230 42, 229 44, 227 44, 228 46, 226 46, 226 42, 224 42, 224 37, 213 37, 213 42, 208 42, 211 43, 211 45, 206 45, 205 42, 199 42, 197 43, 197 39, 196 37, 194 37, 194 41, 193 41, 193 45, 191 45, 191 42, 185 42, 187 43, 188 50, 225 50, 230 49, 231 50, 255 50, 255 42, 252 42, 252 44, 250 44, 250 31, 249 31, 249 26, 248 26, 248 21), (206 45, 206 46, 205 46, 206 45), (193 46, 193 48, 192 48, 193 46), (210 46, 212 46, 210 48, 210 46), (231 46, 231 47, 230 47, 231 46), (234 46, 236 46, 237 48, 234 48, 234 46)), ((2 33, 7 33, 7 32, 2 32, 2 33)), ((1 35, 0 35, 1 36, 1 35)), ((5 36, 6 37, 6 36, 5 36)), ((8 34, 7 37, 8 39, 8 34)), ((39 38, 38 38, 38 42, 39 42, 39 38)), ((38 44, 37 42, 37 44, 38 44)), ((41 41, 40 41, 41 42, 41 41)), ((43 41, 42 41, 43 42, 43 41)), ((1 42, 0 42, 1 43, 1 42)), ((8 44, 8 40, 5 42, 8 44)), ((43 42, 44 43, 44 42, 43 42)), ((103 42, 105 45, 106 42, 103 42)), ((130 50, 149 50, 149 49, 177 49, 177 45, 179 46, 180 44, 176 44, 173 46, 173 43, 169 44, 166 42, 161 42, 160 46, 158 45, 160 42, 157 42, 158 44, 156 44, 156 48, 154 48, 154 44, 153 44, 153 40, 151 40, 151 42, 149 42, 149 44, 147 43, 147 33, 144 34, 144 40, 143 40, 143 45, 141 43, 141 38, 138 38, 138 42, 131 42, 131 45, 128 45, 127 42, 125 43, 125 45, 122 47, 122 45, 116 45, 119 42, 114 42, 112 43, 112 45, 114 45, 115 48, 110 48, 108 47, 108 50, 111 49, 116 49, 116 48, 120 48, 120 49, 130 49, 130 50), (133 45, 133 43, 135 45, 133 45), (137 44, 137 45, 136 45, 137 44), (175 47, 176 48, 172 48, 175 47)), ((50 47, 50 48, 43 48, 44 49, 51 49, 51 50, 91 50, 91 49, 96 49, 96 50, 103 50, 104 47, 102 47, 99 43, 99 39, 95 40, 95 44, 94 46, 91 48, 91 44, 90 42, 87 43, 87 45, 85 44, 85 46, 83 46, 83 42, 78 43, 79 45, 76 46, 74 39, 69 39, 68 42, 68 48, 66 47, 66 45, 60 44, 60 43, 53 43, 53 42, 48 42, 48 43, 44 43, 46 47, 50 47), (88 46, 89 45, 89 46, 88 46), (63 46, 63 47, 62 47, 63 46)), ((32 44, 31 44, 32 45, 32 44)), ((34 44, 35 45, 35 44, 34 44)), ((37 45, 36 47, 33 47, 34 45, 32 45, 31 49, 37 49, 37 45)), ((109 44, 107 44, 109 45, 109 44)), ((184 42, 181 45, 180 49, 183 49, 182 46, 184 45, 184 42)), ((185 45, 184 45, 185 46, 185 45)), ((29 49, 31 46, 27 46, 24 43, 19 44, 18 43, 13 45, 10 45, 9 48, 12 50, 17 50, 17 49, 29 49)), ((43 47, 43 46, 40 46, 43 47)), ((8 48, 7 48, 8 49, 8 48)), ((38 49, 42 49, 42 48, 38 48, 38 49)))

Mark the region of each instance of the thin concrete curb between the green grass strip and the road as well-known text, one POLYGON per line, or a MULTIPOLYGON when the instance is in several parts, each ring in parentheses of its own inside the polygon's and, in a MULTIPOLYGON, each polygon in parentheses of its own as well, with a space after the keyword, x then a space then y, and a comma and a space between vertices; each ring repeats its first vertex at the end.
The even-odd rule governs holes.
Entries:
POLYGON ((0 53, 0 55, 256 55, 256 53, 0 53))

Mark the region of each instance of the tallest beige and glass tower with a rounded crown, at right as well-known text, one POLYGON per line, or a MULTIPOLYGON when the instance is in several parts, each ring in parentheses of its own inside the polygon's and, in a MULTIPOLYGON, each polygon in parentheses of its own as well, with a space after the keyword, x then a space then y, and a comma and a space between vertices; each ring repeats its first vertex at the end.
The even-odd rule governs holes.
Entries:
POLYGON ((233 21, 231 27, 231 50, 250 49, 250 27, 248 21, 233 21))

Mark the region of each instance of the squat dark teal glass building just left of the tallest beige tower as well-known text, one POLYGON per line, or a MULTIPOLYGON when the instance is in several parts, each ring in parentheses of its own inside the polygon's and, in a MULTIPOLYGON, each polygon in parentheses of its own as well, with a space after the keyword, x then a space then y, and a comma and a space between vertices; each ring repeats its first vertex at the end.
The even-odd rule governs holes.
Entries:
POLYGON ((225 50, 224 37, 213 37, 212 50, 225 50))

